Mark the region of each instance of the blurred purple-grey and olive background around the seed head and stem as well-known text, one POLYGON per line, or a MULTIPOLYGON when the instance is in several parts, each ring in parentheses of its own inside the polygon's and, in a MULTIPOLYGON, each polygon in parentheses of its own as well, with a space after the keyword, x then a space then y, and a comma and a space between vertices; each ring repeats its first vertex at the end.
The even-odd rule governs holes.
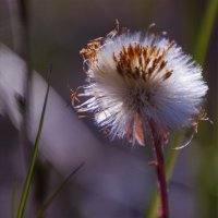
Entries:
POLYGON ((77 119, 69 106, 69 87, 75 89, 85 80, 80 50, 112 31, 118 19, 121 27, 133 32, 156 23, 155 33, 167 32, 203 66, 209 86, 205 108, 214 125, 202 122, 192 143, 177 154, 169 204, 172 218, 217 218, 217 0, 0 0, 0 217, 14 217, 17 209, 50 64, 52 88, 25 217, 37 217, 48 196, 82 164, 39 217, 148 217, 156 190, 155 168, 148 166, 150 146, 110 142, 92 116, 77 119), (31 88, 25 89, 31 69, 31 88), (28 143, 22 145, 25 96, 28 143))

